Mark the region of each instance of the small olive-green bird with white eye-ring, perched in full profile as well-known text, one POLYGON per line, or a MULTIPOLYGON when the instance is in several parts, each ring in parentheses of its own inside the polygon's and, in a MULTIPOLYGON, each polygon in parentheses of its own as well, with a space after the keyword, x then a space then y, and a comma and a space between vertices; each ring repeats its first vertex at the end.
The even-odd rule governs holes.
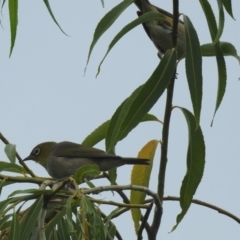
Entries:
POLYGON ((44 142, 33 148, 24 159, 40 163, 56 179, 73 175, 78 168, 96 164, 100 171, 108 171, 125 164, 149 165, 149 159, 122 158, 102 150, 72 142, 44 142))

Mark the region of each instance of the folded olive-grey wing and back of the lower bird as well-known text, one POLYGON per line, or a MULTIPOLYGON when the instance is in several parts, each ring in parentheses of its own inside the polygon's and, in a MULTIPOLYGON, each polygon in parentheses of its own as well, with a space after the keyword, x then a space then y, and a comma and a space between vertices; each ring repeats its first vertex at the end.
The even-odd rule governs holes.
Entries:
POLYGON ((72 142, 58 143, 54 147, 51 155, 54 155, 56 157, 68 157, 68 158, 112 158, 113 156, 118 157, 115 155, 107 154, 104 151, 97 148, 87 147, 72 142))

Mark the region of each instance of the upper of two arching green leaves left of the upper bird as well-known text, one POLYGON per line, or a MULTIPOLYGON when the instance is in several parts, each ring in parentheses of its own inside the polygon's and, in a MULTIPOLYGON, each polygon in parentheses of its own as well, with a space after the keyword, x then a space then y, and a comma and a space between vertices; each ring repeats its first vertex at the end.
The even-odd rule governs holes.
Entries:
POLYGON ((94 35, 93 40, 91 43, 91 46, 89 48, 88 52, 88 58, 87 63, 84 72, 86 72, 87 65, 92 53, 92 50, 100 37, 108 30, 109 27, 117 20, 117 18, 122 14, 122 12, 134 2, 134 0, 124 0, 121 3, 119 3, 117 6, 115 6, 113 9, 111 9, 98 23, 94 35))

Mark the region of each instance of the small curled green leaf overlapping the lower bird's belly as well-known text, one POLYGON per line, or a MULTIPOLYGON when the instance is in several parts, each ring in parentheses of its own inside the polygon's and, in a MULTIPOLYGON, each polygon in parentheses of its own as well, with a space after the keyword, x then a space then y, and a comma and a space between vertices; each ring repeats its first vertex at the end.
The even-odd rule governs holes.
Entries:
POLYGON ((80 167, 74 174, 74 179, 79 184, 84 181, 85 178, 94 178, 100 174, 97 164, 88 164, 80 167))

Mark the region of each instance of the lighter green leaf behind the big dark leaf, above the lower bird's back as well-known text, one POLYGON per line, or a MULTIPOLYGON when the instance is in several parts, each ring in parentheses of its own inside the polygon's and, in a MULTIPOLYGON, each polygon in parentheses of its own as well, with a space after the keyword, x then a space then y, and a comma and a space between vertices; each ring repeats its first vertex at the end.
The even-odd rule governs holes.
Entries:
MULTIPOLYGON (((162 123, 156 116, 153 114, 147 113, 141 120, 141 122, 155 121, 162 123)), ((99 127, 97 127, 93 132, 91 132, 82 142, 84 146, 94 146, 103 139, 105 139, 110 120, 107 120, 99 127)))

